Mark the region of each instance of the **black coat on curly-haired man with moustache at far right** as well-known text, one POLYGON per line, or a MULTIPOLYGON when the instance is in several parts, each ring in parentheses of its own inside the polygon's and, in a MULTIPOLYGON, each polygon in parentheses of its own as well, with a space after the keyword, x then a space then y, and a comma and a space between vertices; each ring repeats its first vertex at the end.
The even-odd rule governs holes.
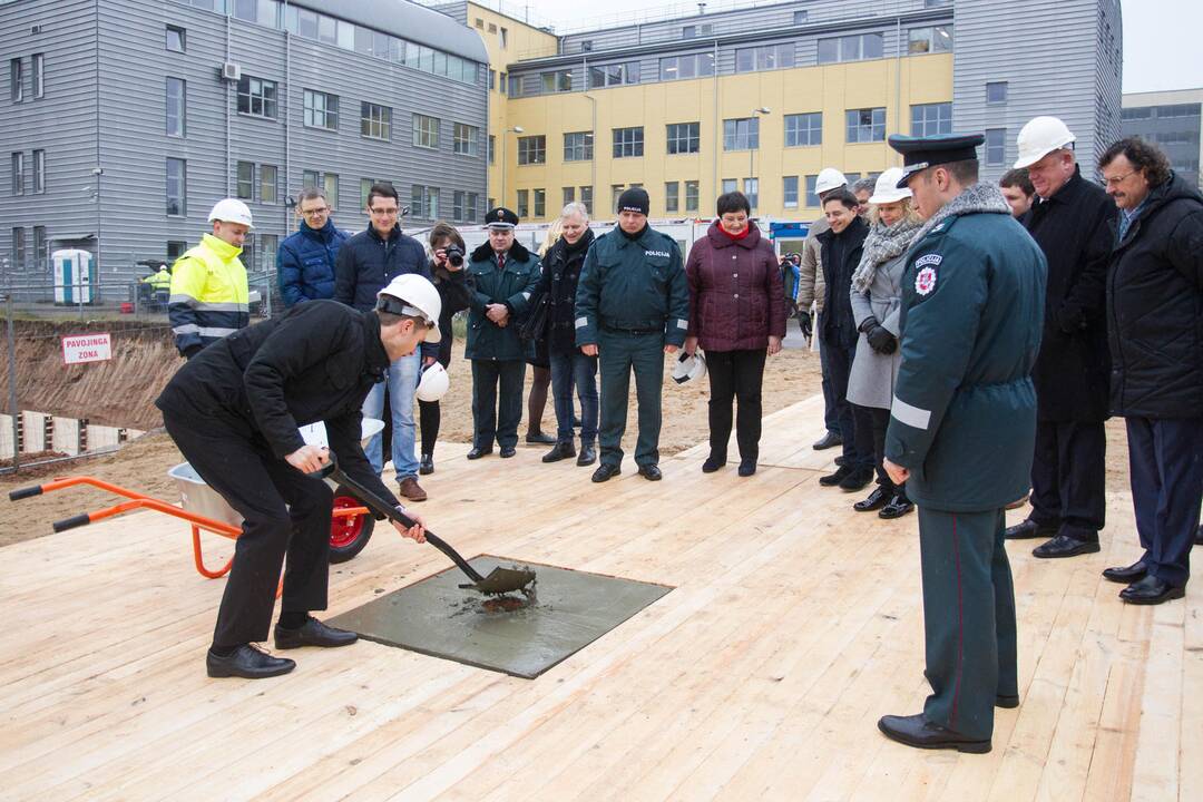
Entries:
POLYGON ((1112 253, 1107 328, 1113 414, 1203 416, 1203 196, 1178 176, 1112 253))

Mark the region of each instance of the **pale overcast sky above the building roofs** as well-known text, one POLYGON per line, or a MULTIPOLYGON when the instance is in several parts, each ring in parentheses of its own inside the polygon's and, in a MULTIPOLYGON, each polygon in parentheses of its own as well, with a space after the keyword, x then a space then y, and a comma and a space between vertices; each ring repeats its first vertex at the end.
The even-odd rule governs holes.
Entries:
MULTIPOLYGON (((481 0, 494 6, 497 0, 481 0)), ((658 0, 503 0, 506 13, 531 14, 561 28, 604 22, 615 14, 675 8, 682 13, 697 4, 658 0)), ((725 5, 721 0, 711 8, 725 5)), ((1122 0, 1124 91, 1203 88, 1203 0, 1122 0)), ((1021 23, 1017 20, 1017 26, 1021 23)))

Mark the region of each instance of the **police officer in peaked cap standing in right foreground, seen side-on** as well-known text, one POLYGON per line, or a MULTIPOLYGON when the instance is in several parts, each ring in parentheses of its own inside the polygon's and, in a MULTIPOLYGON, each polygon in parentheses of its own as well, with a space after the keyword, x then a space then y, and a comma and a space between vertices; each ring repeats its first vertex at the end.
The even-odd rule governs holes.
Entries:
POLYGON ((990 750, 994 708, 1019 705, 1015 595, 1003 509, 1027 489, 1036 438, 1032 368, 1044 255, 991 183, 982 135, 891 136, 899 189, 925 219, 902 279, 902 366, 884 467, 919 506, 926 635, 924 711, 885 715, 923 749, 990 750))

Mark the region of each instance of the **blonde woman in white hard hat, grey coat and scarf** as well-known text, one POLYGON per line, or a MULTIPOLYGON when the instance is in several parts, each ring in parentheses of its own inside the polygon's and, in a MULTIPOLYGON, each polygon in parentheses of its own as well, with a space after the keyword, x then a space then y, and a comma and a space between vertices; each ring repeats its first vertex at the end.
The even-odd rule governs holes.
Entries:
POLYGON ((887 170, 869 198, 871 227, 860 265, 852 274, 852 315, 860 332, 848 376, 848 403, 855 418, 857 451, 873 453, 877 487, 853 509, 878 510, 882 518, 899 518, 914 505, 906 486, 890 480, 882 467, 885 428, 890 421, 894 382, 902 354, 899 349, 899 311, 906 254, 923 225, 911 203, 911 190, 897 189, 901 167, 887 170))

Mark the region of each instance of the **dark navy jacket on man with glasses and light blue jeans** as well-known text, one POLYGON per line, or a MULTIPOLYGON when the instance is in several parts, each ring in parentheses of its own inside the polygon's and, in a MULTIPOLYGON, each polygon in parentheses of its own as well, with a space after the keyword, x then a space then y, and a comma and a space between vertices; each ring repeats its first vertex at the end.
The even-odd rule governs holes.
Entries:
MULTIPOLYGON (((431 278, 426 250, 413 237, 401 233, 401 226, 381 239, 368 226, 343 243, 334 262, 334 301, 360 311, 375 309, 377 293, 398 275, 417 273, 431 278)), ((422 343, 422 356, 438 356, 435 343, 422 343)))

